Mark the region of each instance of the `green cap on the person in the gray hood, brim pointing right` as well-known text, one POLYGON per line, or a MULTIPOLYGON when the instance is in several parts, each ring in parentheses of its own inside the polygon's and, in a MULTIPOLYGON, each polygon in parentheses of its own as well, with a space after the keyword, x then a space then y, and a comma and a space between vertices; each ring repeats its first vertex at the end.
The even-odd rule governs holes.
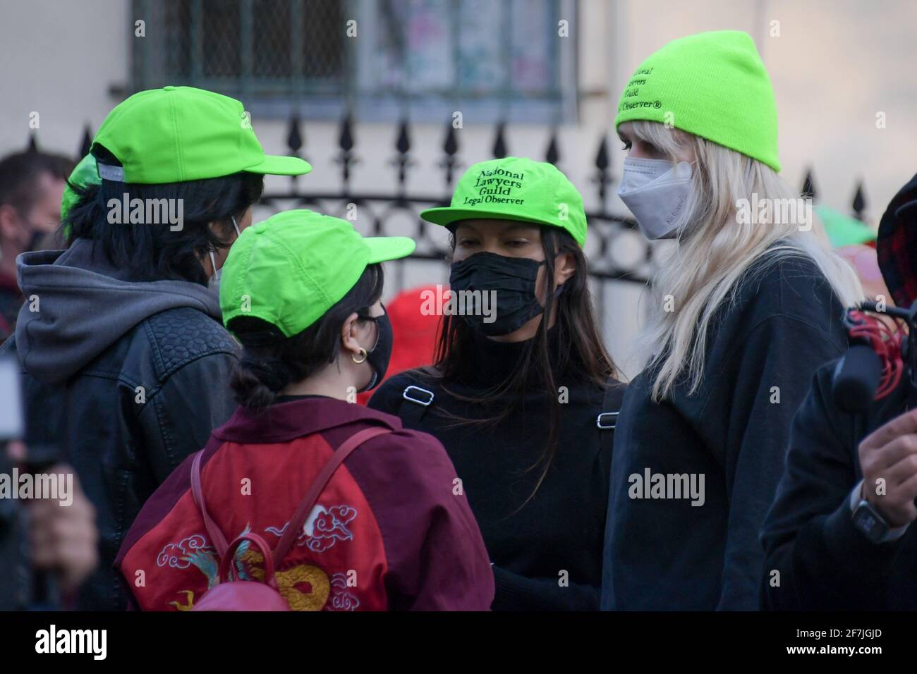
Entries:
POLYGON ((98 164, 99 176, 116 182, 159 184, 220 178, 249 171, 302 175, 298 157, 266 155, 245 108, 235 98, 166 86, 138 92, 108 113, 93 140, 121 166, 98 164))

